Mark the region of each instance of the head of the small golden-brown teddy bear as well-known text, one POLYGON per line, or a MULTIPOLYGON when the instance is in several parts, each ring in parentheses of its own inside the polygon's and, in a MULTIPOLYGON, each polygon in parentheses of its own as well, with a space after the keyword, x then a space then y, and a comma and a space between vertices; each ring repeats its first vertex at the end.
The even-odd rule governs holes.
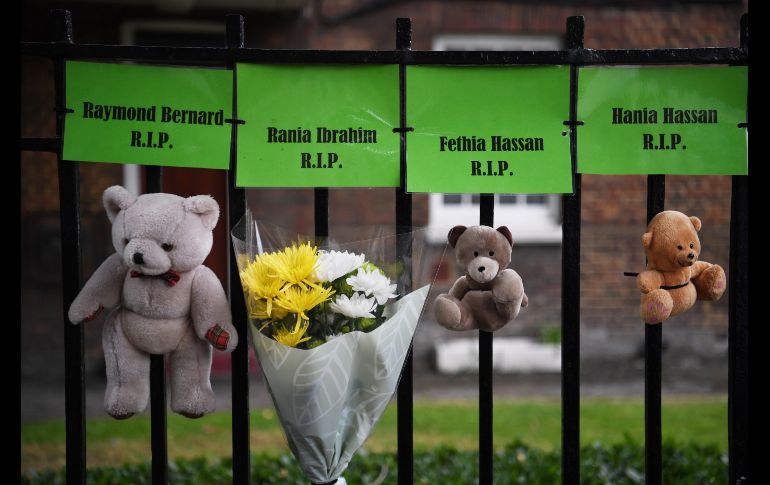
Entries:
POLYGON ((700 255, 700 228, 700 219, 677 211, 664 211, 653 217, 642 236, 647 267, 677 271, 695 264, 700 255))

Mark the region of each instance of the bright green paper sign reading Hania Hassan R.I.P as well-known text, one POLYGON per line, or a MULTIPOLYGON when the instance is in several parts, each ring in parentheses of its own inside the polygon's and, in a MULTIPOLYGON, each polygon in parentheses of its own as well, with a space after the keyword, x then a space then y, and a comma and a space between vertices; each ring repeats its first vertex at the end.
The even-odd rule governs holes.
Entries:
POLYGON ((746 67, 580 69, 578 171, 747 173, 746 67))

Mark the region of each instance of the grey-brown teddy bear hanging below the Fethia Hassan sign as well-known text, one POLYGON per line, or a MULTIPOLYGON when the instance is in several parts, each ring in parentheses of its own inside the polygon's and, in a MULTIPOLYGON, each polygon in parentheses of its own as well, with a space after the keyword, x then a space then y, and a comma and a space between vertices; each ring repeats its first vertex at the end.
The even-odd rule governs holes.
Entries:
POLYGON ((436 298, 436 320, 450 330, 494 332, 512 321, 529 300, 511 262, 513 236, 505 226, 455 226, 447 236, 465 276, 436 298))

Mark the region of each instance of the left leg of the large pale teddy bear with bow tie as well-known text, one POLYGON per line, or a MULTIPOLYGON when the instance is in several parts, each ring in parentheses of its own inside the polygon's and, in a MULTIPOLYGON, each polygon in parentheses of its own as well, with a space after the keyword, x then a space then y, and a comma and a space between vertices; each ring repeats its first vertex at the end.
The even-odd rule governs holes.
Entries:
POLYGON ((150 355, 134 347, 123 333, 122 313, 104 323, 102 347, 107 367, 104 409, 116 419, 130 418, 147 407, 150 396, 150 355))

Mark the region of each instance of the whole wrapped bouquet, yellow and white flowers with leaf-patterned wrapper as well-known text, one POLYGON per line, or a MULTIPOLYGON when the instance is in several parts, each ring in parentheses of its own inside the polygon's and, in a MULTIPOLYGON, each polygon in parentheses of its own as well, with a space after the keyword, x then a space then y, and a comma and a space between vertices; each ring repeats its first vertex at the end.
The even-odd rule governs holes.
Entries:
POLYGON ((312 483, 345 483, 396 390, 431 286, 411 290, 425 274, 424 231, 357 232, 352 243, 316 242, 248 212, 232 231, 252 343, 312 483))

